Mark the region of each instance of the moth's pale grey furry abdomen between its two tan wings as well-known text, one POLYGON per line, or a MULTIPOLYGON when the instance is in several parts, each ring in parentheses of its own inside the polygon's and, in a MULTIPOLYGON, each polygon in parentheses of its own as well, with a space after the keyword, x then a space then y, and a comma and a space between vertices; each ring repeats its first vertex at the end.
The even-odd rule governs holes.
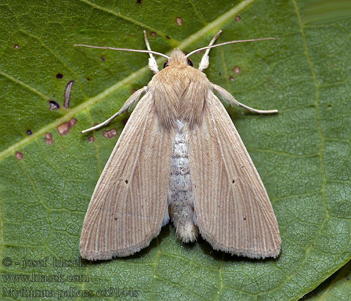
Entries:
POLYGON ((168 209, 177 237, 183 242, 196 240, 199 228, 194 224, 194 200, 190 178, 189 153, 182 122, 177 120, 170 168, 168 209))

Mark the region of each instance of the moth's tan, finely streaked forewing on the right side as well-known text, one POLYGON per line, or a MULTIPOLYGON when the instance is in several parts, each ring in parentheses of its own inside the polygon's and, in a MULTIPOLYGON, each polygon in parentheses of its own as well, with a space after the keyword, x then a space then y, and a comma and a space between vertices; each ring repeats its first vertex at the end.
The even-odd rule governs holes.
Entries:
POLYGON ((222 103, 211 91, 189 139, 196 221, 216 250, 276 257, 280 236, 266 189, 222 103))

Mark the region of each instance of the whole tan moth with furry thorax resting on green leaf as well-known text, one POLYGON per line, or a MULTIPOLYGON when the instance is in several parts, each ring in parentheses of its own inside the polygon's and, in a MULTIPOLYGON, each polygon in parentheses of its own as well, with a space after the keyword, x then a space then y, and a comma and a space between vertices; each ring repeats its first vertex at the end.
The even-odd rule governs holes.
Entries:
MULTIPOLYGON (((135 106, 96 184, 84 219, 80 254, 90 260, 128 256, 150 244, 171 219, 177 238, 199 234, 215 250, 251 258, 276 257, 281 239, 266 189, 225 107, 261 111, 238 102, 211 83, 203 70, 213 45, 185 55, 153 52, 144 31, 154 75, 100 128, 135 106), (189 56, 205 50, 199 68, 189 56), (158 71, 153 54, 165 57, 158 71), (143 95, 143 96, 142 96, 143 95), (142 96, 142 97, 141 97, 142 96), (140 99, 141 97, 141 99, 140 99), (139 100, 140 99, 140 100, 139 100)), ((253 39, 244 41, 267 40, 253 39)))

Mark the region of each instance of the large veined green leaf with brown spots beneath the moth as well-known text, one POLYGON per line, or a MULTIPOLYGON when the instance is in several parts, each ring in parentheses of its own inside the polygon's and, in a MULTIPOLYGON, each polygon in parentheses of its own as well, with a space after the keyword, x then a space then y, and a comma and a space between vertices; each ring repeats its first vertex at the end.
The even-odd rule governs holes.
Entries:
MULTIPOLYGON (((320 283, 318 294, 331 289, 350 298, 348 280, 323 281, 351 258, 351 22, 306 26, 302 8, 296 1, 2 2, 3 298, 106 300, 118 288, 121 297, 140 300, 296 300, 320 283), (114 114, 152 72, 146 54, 73 45, 145 49, 143 29, 162 53, 207 46, 219 29, 217 43, 280 38, 215 48, 205 70, 240 102, 279 109, 263 116, 228 108, 277 216, 277 259, 231 256, 201 238, 182 244, 167 225, 133 256, 79 261, 91 194, 128 115, 80 131, 114 114), (50 111, 50 101, 60 108, 50 111), (74 125, 60 135, 64 122, 74 125), (104 137, 110 129, 117 136, 104 137), (54 257, 73 266, 55 266, 54 257)), ((200 59, 192 56, 194 66, 200 59)))

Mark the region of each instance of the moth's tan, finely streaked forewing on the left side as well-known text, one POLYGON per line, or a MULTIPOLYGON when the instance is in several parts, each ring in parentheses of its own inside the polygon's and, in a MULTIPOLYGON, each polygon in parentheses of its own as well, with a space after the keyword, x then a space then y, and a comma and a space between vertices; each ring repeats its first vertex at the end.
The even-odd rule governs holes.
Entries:
POLYGON ((149 245, 168 217, 172 137, 159 127, 150 93, 129 117, 95 187, 80 238, 90 260, 149 245))

